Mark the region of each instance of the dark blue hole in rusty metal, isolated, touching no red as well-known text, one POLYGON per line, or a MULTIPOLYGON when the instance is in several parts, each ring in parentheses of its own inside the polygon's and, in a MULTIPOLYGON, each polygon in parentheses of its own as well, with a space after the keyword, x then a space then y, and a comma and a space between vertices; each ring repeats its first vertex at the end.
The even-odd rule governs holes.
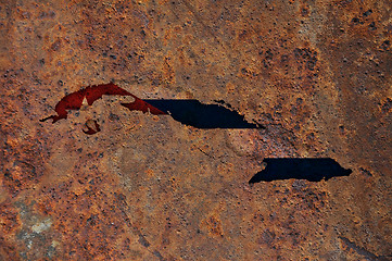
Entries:
POLYGON ((336 176, 349 176, 352 171, 342 167, 330 158, 266 158, 266 167, 256 173, 249 183, 281 179, 306 179, 309 182, 328 181, 336 176))

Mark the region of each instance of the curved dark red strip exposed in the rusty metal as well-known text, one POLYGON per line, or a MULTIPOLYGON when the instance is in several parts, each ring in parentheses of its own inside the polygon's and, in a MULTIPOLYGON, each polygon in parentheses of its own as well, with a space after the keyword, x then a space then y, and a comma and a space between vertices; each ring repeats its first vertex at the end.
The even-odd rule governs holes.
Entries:
MULTIPOLYGON (((83 101, 86 98, 87 103, 92 105, 92 103, 102 98, 102 96, 131 96, 135 101, 130 103, 122 103, 125 108, 128 108, 130 111, 142 111, 142 112, 150 112, 151 114, 167 114, 160 109, 147 103, 146 101, 139 99, 138 97, 134 96, 132 94, 126 91, 125 89, 118 87, 117 85, 110 83, 105 85, 93 85, 88 86, 85 89, 75 91, 71 95, 65 96, 62 98, 59 103, 55 105, 54 111, 56 115, 51 115, 49 117, 40 120, 41 122, 48 121, 52 119, 52 123, 58 122, 61 119, 67 119, 69 110, 79 110, 81 108, 83 101)), ((87 132, 90 132, 87 130, 87 132)), ((89 134, 89 133, 87 133, 89 134)))

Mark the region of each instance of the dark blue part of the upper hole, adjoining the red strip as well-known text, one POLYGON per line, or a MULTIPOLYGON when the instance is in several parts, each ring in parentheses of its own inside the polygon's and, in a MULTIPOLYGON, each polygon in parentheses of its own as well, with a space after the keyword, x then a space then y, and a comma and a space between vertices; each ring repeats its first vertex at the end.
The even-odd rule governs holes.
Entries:
POLYGON ((249 123, 236 111, 198 100, 144 100, 174 120, 198 128, 264 128, 249 123))

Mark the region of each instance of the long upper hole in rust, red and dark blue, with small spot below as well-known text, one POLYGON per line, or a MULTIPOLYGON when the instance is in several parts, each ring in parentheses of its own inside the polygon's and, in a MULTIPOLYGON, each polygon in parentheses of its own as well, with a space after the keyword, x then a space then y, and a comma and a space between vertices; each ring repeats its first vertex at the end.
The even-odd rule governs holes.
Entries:
MULTIPOLYGON (((154 115, 169 114, 174 120, 198 128, 264 128, 257 124, 248 123, 244 117, 236 111, 231 111, 218 104, 203 104, 198 100, 142 100, 113 83, 87 86, 64 96, 55 105, 55 114, 47 116, 40 122, 52 120, 55 123, 68 117, 68 111, 79 110, 86 101, 88 105, 101 99, 102 96, 130 96, 134 102, 121 103, 130 111, 141 111, 154 115)), ((216 101, 225 104, 224 101, 216 101)), ((229 105, 228 105, 229 107, 229 105)), ((86 134, 92 135, 100 130, 96 121, 86 123, 86 134)))

